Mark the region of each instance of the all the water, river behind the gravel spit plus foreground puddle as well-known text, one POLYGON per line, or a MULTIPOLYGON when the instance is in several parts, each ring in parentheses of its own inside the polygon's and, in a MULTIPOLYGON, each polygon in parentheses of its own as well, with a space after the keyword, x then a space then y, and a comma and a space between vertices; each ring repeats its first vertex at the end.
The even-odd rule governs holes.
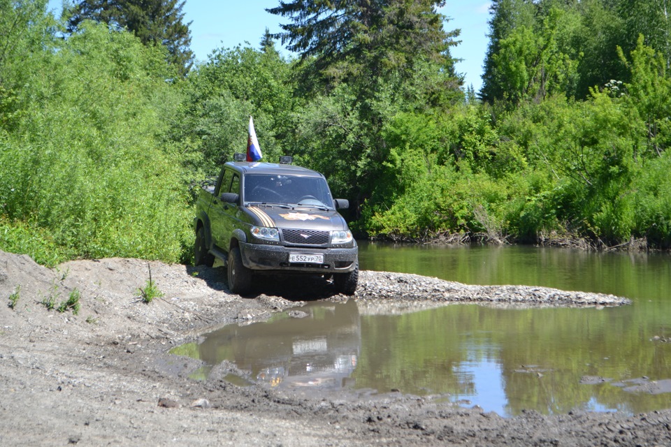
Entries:
MULTIPOLYGON (((613 293, 633 305, 494 309, 450 305, 389 314, 314 302, 267 323, 231 325, 192 345, 247 380, 322 390, 442 395, 501 416, 523 409, 639 413, 671 406, 671 257, 534 247, 361 244, 361 268, 466 284, 613 293), (669 342, 666 340, 669 339, 669 342)), ((206 374, 206 370, 203 374, 206 374)))

